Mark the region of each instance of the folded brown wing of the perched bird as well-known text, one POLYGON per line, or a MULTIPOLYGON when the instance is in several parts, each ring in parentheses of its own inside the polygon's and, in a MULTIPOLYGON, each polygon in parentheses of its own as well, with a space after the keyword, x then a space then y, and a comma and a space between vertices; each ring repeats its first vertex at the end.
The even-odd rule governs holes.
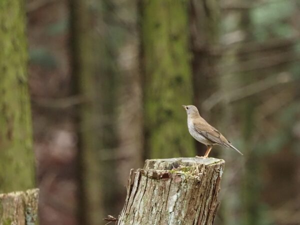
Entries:
POLYGON ((205 136, 207 139, 223 146, 223 147, 228 147, 229 146, 229 141, 213 126, 203 123, 194 123, 194 127, 197 132, 205 136))

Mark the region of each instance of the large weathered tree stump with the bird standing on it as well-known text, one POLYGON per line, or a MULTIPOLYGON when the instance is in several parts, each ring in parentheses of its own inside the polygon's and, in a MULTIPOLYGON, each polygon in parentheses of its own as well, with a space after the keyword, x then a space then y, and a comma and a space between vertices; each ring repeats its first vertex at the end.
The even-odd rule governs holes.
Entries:
POLYGON ((212 224, 224 160, 147 159, 131 169, 117 224, 212 224))

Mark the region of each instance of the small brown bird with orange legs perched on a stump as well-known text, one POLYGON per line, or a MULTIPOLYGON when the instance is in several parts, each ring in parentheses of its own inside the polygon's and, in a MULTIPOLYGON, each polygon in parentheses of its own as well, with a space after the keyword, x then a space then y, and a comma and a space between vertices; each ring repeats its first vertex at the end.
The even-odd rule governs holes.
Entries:
POLYGON ((200 116, 196 106, 182 105, 182 107, 186 110, 187 127, 190 135, 200 143, 207 146, 204 158, 208 157, 212 146, 216 144, 226 148, 231 147, 242 155, 242 153, 235 148, 229 140, 227 140, 216 128, 200 116))

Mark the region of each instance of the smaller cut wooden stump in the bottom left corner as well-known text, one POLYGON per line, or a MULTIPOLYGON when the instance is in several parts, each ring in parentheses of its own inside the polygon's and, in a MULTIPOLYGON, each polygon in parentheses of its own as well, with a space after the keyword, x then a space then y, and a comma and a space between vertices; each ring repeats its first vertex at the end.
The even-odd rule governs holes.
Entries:
POLYGON ((0 224, 37 224, 38 189, 0 194, 0 224))

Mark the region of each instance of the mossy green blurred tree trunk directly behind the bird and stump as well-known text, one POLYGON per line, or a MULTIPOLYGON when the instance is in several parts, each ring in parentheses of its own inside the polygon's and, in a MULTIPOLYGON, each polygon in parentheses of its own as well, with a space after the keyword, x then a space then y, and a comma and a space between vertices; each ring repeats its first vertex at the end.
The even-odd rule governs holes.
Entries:
POLYGON ((187 0, 140 4, 145 150, 150 158, 195 155, 181 107, 192 103, 187 9, 187 0))

